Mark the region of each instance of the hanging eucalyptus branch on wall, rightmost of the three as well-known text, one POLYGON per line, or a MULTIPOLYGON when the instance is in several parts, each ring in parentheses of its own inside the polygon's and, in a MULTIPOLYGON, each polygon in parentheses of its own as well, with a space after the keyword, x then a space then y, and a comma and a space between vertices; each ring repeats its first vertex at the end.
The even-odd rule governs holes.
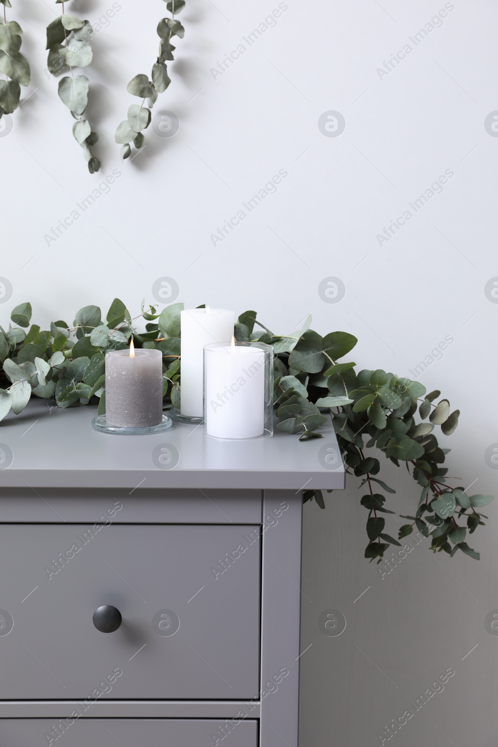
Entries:
MULTIPOLYGON (((164 0, 166 1, 166 0, 164 0)), ((168 76, 168 70, 165 61, 171 61, 175 58, 172 53, 175 49, 171 44, 171 37, 177 36, 180 39, 184 37, 184 27, 175 19, 175 14, 180 13, 185 7, 184 0, 169 0, 166 8, 171 13, 171 18, 163 18, 158 23, 158 36, 161 39, 159 43, 159 56, 157 61, 152 65, 152 81, 144 73, 135 75, 128 83, 128 93, 143 99, 140 106, 132 104, 128 109, 128 119, 118 125, 114 139, 116 143, 121 144, 121 158, 128 158, 131 155, 130 143, 138 149, 143 147, 145 137, 142 130, 149 127, 152 113, 151 109, 155 105, 158 93, 163 93, 171 83, 168 76), (147 107, 143 103, 147 99, 147 107)))

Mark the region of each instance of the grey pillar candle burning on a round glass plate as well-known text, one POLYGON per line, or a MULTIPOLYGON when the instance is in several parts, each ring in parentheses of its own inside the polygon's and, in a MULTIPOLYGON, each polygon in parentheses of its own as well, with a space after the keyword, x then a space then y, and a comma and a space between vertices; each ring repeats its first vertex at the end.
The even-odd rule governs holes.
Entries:
POLYGON ((105 420, 142 428, 163 419, 161 350, 112 350, 105 356, 105 420))

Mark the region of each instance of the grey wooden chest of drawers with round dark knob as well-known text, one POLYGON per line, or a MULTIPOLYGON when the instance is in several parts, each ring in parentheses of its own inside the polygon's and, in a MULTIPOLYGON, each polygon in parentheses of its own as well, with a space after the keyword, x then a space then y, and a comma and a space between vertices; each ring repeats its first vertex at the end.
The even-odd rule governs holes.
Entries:
POLYGON ((92 416, 37 401, 0 427, 1 745, 296 747, 302 490, 343 488, 332 425, 92 416))

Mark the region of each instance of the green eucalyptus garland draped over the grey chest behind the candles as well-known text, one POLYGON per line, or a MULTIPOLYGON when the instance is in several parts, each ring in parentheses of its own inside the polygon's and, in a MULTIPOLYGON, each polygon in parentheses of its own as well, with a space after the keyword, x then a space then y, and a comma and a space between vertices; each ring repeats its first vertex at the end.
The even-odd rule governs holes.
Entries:
MULTIPOLYGON (((161 350, 163 407, 179 407, 183 307, 183 303, 173 303, 158 314, 155 306, 146 309, 144 300, 140 316, 132 319, 125 304, 116 298, 105 322, 98 306, 85 306, 71 326, 57 320, 42 331, 37 324, 30 325, 31 304, 16 306, 9 329, 0 327, 0 384, 4 387, 0 388, 0 421, 11 408, 16 415, 22 412, 31 394, 55 397, 62 408, 98 403, 102 415, 105 353, 124 350, 130 338, 136 347, 161 350), (146 329, 139 332, 136 322, 142 318, 146 329)), ((382 369, 356 373, 355 362, 337 362, 350 353, 357 339, 348 332, 330 332, 322 337, 310 329, 311 314, 302 329, 289 335, 274 334, 256 316, 255 311, 240 314, 234 335, 238 341, 273 346, 278 429, 299 433, 300 441, 321 438, 317 428, 332 415, 346 472, 365 491, 361 497, 361 505, 368 512, 365 557, 380 562, 387 548, 401 546, 399 540, 417 527, 423 536, 431 536, 432 551, 453 556, 460 550, 479 560, 479 553, 465 540, 467 532, 473 534, 484 525, 482 520, 488 517, 481 508, 494 496, 467 495, 464 486, 449 486, 448 480, 459 478, 447 476, 447 468, 442 465, 449 449, 439 446, 433 431, 441 427, 443 436, 449 436, 458 425, 459 412, 450 412, 449 401, 440 399, 441 391, 427 394, 420 382, 395 373, 382 369), (437 404, 435 400, 439 400, 437 404), (416 421, 417 411, 420 422, 416 421), (385 508, 385 493, 395 491, 378 477, 379 459, 364 453, 374 447, 396 466, 404 462, 421 488, 417 509, 414 515, 403 516, 408 523, 399 529, 398 539, 385 532, 382 516, 394 513, 385 508)), ((313 499, 325 508, 320 490, 305 490, 303 500, 313 499)))

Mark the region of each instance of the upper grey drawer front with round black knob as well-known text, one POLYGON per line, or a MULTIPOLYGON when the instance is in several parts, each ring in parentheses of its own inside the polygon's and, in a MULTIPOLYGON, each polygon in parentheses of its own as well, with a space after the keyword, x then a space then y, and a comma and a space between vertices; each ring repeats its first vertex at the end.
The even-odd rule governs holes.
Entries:
POLYGON ((0 700, 255 698, 260 533, 1 524, 0 700), (101 606, 122 616, 111 633, 101 606))

